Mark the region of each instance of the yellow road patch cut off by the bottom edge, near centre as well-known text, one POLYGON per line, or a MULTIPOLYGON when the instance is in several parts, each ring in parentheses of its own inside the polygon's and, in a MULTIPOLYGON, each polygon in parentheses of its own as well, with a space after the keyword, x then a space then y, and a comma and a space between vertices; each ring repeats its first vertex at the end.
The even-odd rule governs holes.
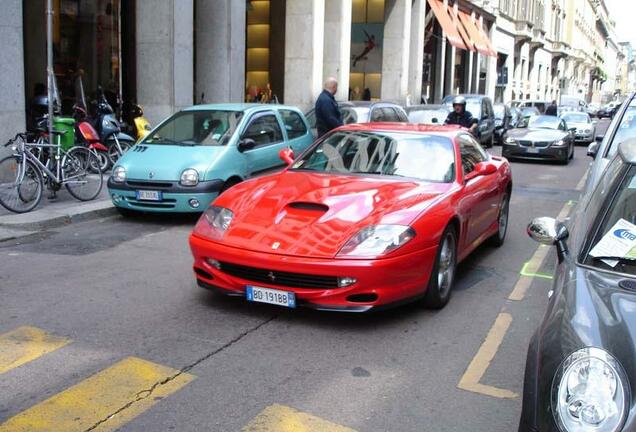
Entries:
POLYGON ((284 405, 270 405, 254 420, 241 429, 242 432, 355 432, 323 420, 311 414, 284 405))

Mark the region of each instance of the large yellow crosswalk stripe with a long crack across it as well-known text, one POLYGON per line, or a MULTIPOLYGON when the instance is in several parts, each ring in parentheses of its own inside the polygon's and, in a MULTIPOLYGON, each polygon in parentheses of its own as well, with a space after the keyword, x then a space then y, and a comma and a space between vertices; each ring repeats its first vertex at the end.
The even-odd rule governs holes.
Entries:
POLYGON ((0 425, 0 432, 114 431, 195 377, 129 357, 0 425))

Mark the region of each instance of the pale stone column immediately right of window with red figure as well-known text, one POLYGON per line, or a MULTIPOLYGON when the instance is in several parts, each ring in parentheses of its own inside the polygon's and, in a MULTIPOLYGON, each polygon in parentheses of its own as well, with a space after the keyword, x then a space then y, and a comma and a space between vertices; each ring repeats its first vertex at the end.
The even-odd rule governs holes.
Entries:
POLYGON ((386 0, 382 43, 382 99, 406 100, 412 0, 386 0))

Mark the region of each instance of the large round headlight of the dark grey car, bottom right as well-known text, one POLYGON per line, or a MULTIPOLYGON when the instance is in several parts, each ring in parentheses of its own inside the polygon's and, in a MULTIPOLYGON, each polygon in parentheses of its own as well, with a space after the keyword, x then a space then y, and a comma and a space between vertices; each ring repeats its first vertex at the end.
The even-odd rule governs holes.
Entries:
POLYGON ((552 383, 552 409, 563 432, 619 431, 629 406, 629 383, 608 352, 583 348, 559 367, 552 383))

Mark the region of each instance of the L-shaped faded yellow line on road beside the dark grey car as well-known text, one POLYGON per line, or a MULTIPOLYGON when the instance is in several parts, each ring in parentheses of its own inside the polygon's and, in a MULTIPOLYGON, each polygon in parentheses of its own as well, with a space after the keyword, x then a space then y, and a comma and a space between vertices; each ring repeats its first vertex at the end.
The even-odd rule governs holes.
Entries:
POLYGON ((462 390, 468 390, 475 393, 481 393, 496 398, 516 398, 518 395, 510 390, 481 384, 481 378, 484 376, 490 363, 495 358, 497 350, 503 342, 503 338, 510 327, 512 316, 508 313, 500 313, 495 323, 490 328, 486 339, 479 347, 479 351, 473 357, 473 360, 466 368, 466 372, 459 380, 457 387, 462 390))

